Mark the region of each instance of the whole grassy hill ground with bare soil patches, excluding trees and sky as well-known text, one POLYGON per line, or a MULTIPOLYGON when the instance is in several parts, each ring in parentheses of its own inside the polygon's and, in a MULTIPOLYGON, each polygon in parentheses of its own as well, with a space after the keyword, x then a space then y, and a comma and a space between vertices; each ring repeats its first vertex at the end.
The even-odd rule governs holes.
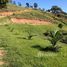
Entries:
POLYGON ((67 31, 67 19, 50 12, 15 5, 9 5, 3 12, 1 10, 1 67, 67 67, 66 43, 57 43, 61 46, 59 52, 45 50, 51 43, 43 33, 59 30, 60 23, 67 31), (36 36, 28 40, 29 34, 36 36))

